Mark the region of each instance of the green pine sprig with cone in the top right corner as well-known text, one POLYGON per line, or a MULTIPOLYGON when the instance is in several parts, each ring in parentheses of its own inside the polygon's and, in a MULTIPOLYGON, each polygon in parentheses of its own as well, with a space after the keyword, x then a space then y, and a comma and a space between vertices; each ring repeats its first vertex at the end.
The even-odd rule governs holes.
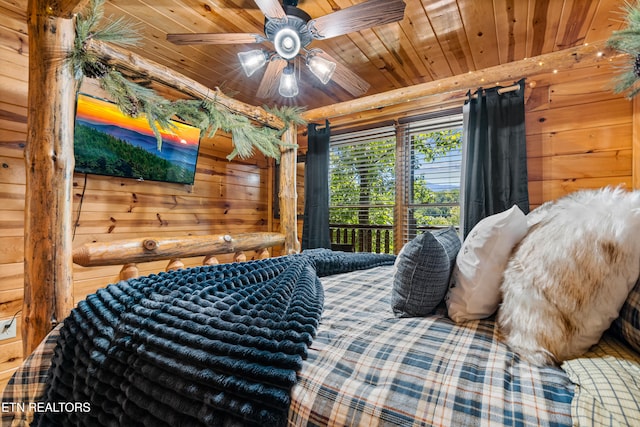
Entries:
POLYGON ((640 1, 625 2, 622 12, 626 28, 614 31, 607 45, 630 56, 615 79, 614 92, 627 92, 627 98, 631 99, 640 92, 640 1))

